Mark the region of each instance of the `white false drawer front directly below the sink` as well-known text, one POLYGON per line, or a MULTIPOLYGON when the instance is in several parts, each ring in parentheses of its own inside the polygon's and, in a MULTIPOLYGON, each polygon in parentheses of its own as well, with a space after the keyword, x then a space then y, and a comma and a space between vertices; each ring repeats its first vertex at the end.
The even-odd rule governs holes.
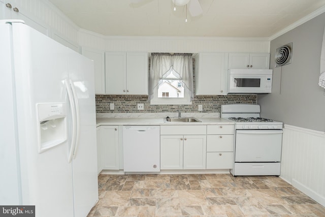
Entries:
POLYGON ((160 135, 206 135, 206 125, 175 125, 175 126, 160 126, 160 135))

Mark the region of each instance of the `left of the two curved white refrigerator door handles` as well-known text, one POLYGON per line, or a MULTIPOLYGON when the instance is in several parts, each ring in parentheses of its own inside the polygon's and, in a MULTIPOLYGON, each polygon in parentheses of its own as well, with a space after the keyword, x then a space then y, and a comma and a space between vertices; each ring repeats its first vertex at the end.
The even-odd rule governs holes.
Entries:
POLYGON ((73 156, 73 151, 75 149, 75 144, 76 144, 76 112, 75 112, 75 102, 73 100, 73 92, 71 89, 71 83, 69 82, 68 79, 64 81, 66 83, 67 87, 67 93, 68 93, 68 98, 69 98, 69 103, 70 103, 70 110, 71 110, 71 123, 72 123, 72 135, 71 135, 71 144, 70 144, 70 150, 69 150, 69 156, 68 156, 68 162, 71 163, 72 161, 72 156, 73 156))

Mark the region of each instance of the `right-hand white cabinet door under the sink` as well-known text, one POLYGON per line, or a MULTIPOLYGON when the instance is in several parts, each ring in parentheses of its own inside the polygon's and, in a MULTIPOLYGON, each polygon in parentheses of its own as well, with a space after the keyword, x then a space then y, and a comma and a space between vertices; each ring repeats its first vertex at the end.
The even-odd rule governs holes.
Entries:
POLYGON ((183 169, 206 169, 206 136, 184 136, 183 169))

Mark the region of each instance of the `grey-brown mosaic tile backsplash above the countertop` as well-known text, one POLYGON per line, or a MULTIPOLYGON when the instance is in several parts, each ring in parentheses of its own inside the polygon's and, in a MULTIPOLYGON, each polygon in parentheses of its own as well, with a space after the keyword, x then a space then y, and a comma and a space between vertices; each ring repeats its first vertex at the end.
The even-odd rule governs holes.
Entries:
POLYGON ((228 96, 194 96, 191 105, 150 105, 148 96, 129 95, 96 95, 96 112, 198 112, 202 105, 202 112, 220 112, 223 104, 257 104, 257 95, 228 95, 228 96), (114 103, 114 110, 110 104, 114 103), (144 110, 138 110, 138 103, 144 104, 144 110))

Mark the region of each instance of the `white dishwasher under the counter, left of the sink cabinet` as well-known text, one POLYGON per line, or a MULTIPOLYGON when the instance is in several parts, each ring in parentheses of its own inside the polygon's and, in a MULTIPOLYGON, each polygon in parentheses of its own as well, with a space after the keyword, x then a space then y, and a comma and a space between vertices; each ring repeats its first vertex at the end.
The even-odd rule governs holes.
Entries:
POLYGON ((160 171, 160 126, 123 126, 124 172, 160 171))

